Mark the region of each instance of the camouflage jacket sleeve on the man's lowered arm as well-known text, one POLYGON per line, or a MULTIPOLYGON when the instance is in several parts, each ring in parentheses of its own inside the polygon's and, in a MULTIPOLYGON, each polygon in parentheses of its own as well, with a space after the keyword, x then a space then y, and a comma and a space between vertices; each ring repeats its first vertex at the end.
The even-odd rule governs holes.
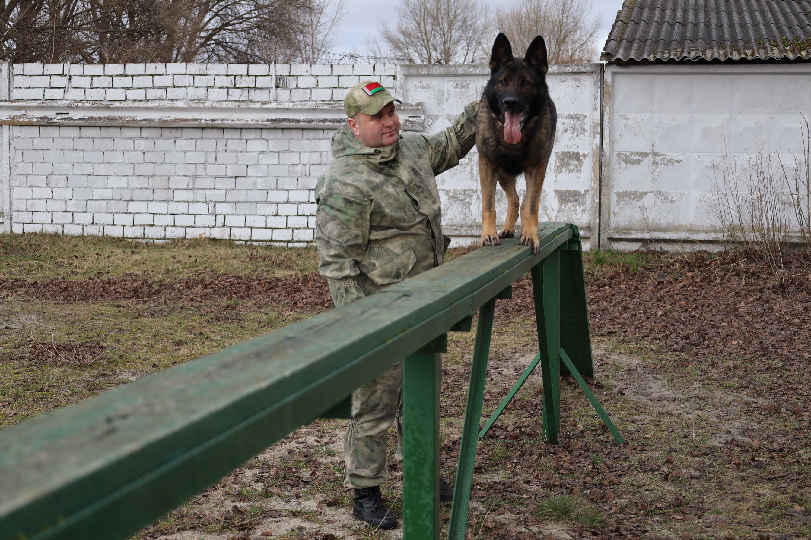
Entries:
POLYGON ((355 276, 369 243, 371 203, 340 193, 320 193, 315 217, 318 270, 336 307, 363 298, 355 276))

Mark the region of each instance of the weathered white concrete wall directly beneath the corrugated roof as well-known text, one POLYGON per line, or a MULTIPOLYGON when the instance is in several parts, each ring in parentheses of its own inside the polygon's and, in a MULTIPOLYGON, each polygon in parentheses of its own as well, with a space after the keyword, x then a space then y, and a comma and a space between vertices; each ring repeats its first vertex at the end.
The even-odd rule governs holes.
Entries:
POLYGON ((727 156, 762 148, 793 167, 801 153, 808 63, 607 66, 605 77, 604 247, 718 240, 710 202, 727 156))

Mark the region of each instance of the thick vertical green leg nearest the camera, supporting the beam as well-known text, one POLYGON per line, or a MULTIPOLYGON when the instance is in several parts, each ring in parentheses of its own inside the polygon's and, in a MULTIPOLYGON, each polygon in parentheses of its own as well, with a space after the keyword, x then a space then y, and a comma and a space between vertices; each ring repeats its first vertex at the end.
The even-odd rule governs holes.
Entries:
POLYGON ((403 360, 403 538, 440 538, 442 334, 403 360))

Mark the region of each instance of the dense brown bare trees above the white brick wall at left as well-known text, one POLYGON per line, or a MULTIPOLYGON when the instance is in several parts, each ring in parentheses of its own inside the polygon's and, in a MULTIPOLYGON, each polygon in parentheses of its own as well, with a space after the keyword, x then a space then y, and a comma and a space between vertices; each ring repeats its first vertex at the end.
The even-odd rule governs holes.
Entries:
POLYGON ((0 54, 11 62, 317 62, 345 2, 0 0, 0 54))

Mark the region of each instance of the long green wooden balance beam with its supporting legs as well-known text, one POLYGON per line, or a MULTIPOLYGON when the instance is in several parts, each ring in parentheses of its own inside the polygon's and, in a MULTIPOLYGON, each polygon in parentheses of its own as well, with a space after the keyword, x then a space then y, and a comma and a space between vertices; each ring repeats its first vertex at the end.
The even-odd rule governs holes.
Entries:
MULTIPOLYGON (((504 240, 373 296, 0 431, 0 540, 129 538, 294 429, 319 417, 345 417, 354 389, 401 361, 404 537, 439 538, 440 353, 445 334, 470 331, 478 310, 448 529, 449 538, 464 538, 496 298, 528 271, 550 388, 544 435, 556 440, 558 363, 545 361, 560 348, 560 334, 551 330, 560 318, 560 287, 551 279, 555 272, 547 279, 540 269, 552 261, 559 273, 560 253, 572 241, 579 245, 579 236, 570 223, 542 223, 539 238, 536 255, 504 240)), ((590 373, 578 364, 586 356, 566 351, 590 373)))

